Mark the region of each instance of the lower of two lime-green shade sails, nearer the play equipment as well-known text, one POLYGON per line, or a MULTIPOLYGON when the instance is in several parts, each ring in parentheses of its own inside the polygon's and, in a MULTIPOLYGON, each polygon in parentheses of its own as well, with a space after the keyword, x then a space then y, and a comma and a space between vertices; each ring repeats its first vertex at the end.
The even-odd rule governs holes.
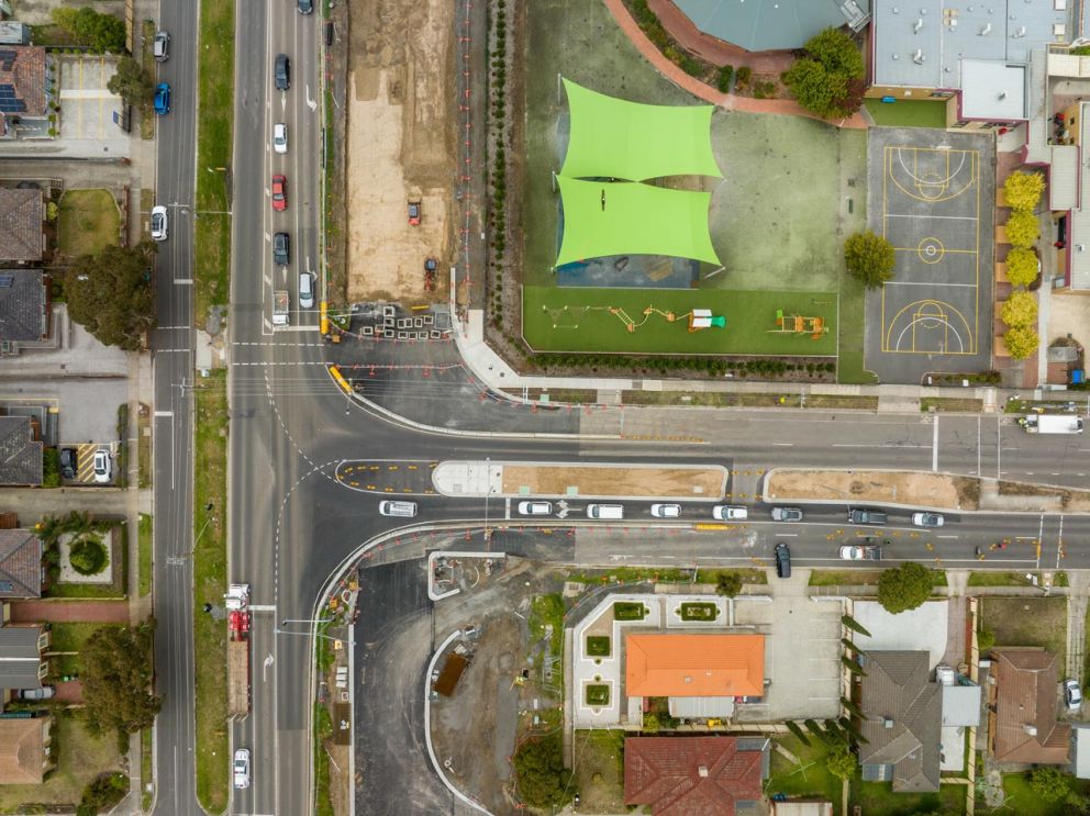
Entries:
POLYGON ((720 265, 708 232, 709 192, 557 179, 564 238, 557 266, 608 255, 671 255, 720 265))

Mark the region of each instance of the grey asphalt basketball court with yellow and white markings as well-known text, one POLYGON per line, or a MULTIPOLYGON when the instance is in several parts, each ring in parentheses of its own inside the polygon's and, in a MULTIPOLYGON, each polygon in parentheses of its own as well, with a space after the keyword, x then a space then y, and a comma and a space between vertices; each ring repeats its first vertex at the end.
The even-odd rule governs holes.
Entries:
POLYGON ((882 382, 991 362, 991 136, 877 127, 868 221, 893 245, 893 280, 867 292, 866 367, 882 382))

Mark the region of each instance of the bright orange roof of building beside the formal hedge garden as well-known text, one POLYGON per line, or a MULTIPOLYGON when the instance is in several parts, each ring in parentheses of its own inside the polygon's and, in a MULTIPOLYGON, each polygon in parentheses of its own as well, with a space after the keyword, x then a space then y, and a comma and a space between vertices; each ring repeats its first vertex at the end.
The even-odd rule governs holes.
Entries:
POLYGON ((735 697, 765 693, 764 635, 629 635, 625 694, 735 697))

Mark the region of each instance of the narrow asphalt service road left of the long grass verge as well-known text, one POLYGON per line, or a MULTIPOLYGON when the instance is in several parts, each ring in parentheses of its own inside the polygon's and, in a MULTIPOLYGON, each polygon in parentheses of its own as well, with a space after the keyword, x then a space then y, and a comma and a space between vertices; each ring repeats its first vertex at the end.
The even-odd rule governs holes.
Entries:
POLYGON ((169 238, 156 262, 158 328, 152 335, 155 392, 155 637, 157 813, 197 813, 193 765, 192 528, 192 205, 197 143, 197 3, 163 3, 171 35, 159 81, 170 83, 170 113, 157 120, 156 203, 168 208, 169 238))

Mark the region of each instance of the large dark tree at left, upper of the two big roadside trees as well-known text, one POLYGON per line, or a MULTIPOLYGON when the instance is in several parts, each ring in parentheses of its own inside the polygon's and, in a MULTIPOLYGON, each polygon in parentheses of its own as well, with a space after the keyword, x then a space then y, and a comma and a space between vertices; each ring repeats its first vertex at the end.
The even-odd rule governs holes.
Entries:
POLYGON ((77 258, 65 273, 71 318, 108 346, 138 349, 143 334, 155 327, 151 269, 156 251, 145 241, 77 258))

